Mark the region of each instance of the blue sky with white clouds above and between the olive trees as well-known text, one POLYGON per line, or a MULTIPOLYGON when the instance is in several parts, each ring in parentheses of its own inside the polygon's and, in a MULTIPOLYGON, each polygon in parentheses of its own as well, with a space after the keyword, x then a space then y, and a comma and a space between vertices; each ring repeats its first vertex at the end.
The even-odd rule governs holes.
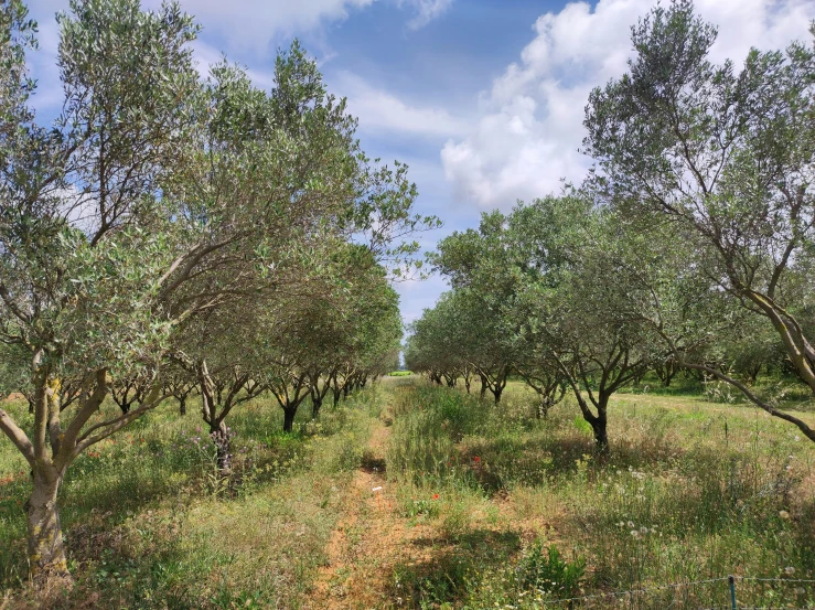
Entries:
MULTIPOLYGON (((666 1, 666 0, 665 0, 666 1)), ((203 30, 200 69, 222 54, 272 86, 275 56, 297 38, 317 60, 331 93, 360 119, 368 157, 410 167, 417 212, 444 226, 419 236, 432 249, 482 212, 510 210, 579 183, 591 165, 580 153, 589 92, 621 76, 630 28, 655 0, 181 0, 203 30)), ((154 9, 160 0, 142 0, 154 9)), ((39 117, 58 113, 57 11, 68 0, 29 0, 40 49, 39 117)), ((716 62, 739 66, 749 49, 812 41, 815 0, 697 0, 719 28, 716 62)), ((442 278, 396 285, 406 323, 446 289, 442 278)))

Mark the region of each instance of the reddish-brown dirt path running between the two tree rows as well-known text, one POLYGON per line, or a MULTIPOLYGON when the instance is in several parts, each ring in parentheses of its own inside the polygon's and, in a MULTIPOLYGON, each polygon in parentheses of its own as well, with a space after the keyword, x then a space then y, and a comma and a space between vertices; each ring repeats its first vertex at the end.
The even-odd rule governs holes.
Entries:
POLYGON ((385 477, 389 438, 390 428, 377 421, 307 608, 379 610, 398 604, 390 597, 393 568, 418 558, 421 545, 412 543, 427 532, 410 527, 397 512, 395 489, 385 477))

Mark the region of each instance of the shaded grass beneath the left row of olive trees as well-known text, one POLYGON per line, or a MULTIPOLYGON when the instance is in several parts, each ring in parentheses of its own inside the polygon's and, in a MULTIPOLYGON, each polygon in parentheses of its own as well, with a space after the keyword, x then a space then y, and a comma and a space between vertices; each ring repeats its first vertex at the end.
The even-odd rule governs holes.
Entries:
MULTIPOLYGON (((190 497, 213 494, 214 485, 221 495, 232 497, 247 478, 255 485, 268 484, 300 465, 292 458, 301 450, 304 437, 278 432, 264 439, 268 445, 256 446, 251 454, 237 456, 235 448, 236 460, 227 482, 217 479, 214 456, 211 464, 203 463, 207 458, 195 453, 197 449, 173 449, 171 441, 157 446, 154 439, 148 438, 138 449, 128 447, 127 452, 117 448, 79 457, 68 470, 60 497, 69 560, 77 567, 96 564, 104 557, 112 564, 127 563, 127 553, 121 557, 110 557, 109 553, 122 550, 121 526, 128 518, 153 506, 173 502, 182 505, 190 497)), ((25 472, 0 486, 0 590, 19 588, 26 579, 23 506, 30 493, 25 472)))

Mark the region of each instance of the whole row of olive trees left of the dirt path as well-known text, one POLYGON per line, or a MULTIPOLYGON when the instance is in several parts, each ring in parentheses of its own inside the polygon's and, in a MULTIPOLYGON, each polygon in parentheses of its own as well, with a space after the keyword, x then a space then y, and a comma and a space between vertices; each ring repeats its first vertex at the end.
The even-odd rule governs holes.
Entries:
POLYGON ((310 390, 378 373, 400 336, 388 275, 437 224, 411 212, 404 165, 362 153, 297 43, 267 92, 226 61, 202 77, 175 3, 73 0, 57 21, 64 104, 42 126, 34 25, 0 3, 0 394, 32 408, 0 410, 0 429, 31 468, 37 578, 67 574, 72 462, 169 396, 197 388, 228 469, 238 404, 271 389, 290 428, 310 390))

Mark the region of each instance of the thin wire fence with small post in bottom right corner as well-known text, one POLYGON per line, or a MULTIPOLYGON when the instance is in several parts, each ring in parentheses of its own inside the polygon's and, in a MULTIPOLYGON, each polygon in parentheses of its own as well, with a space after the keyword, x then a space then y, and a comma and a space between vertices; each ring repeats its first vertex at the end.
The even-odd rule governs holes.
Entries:
POLYGON ((813 610, 815 580, 734 576, 539 603, 546 610, 813 610))

